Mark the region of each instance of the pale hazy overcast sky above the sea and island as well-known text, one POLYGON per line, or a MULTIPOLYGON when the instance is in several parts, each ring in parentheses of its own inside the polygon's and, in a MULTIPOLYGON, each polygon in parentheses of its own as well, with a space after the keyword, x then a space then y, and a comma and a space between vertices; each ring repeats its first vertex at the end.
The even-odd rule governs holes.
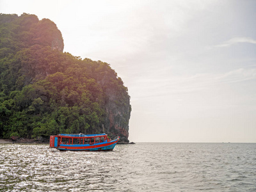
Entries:
POLYGON ((256 142, 256 1, 13 1, 60 29, 64 52, 111 65, 134 142, 256 142))

